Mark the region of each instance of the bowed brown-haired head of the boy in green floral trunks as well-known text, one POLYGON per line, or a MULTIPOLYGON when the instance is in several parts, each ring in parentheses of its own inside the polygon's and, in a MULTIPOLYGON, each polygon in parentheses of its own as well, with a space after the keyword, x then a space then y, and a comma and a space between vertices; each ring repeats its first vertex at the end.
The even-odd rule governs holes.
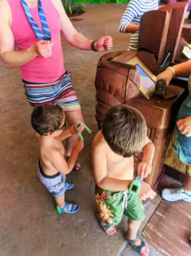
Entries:
POLYGON ((105 114, 102 133, 113 152, 130 157, 141 152, 147 136, 147 125, 134 107, 118 105, 105 114))

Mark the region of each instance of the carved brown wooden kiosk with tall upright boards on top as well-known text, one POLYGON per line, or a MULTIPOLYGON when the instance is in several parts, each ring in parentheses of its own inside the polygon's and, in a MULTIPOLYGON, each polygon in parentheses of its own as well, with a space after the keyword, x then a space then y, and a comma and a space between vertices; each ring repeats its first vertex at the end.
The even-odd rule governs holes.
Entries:
MULTIPOLYGON (((165 7, 167 8, 148 11, 141 18, 138 51, 120 51, 103 55, 95 76, 95 118, 99 129, 102 128, 105 112, 114 105, 127 103, 143 113, 148 136, 156 147, 153 169, 146 179, 153 188, 157 187, 163 173, 163 160, 174 126, 173 117, 183 101, 183 88, 170 85, 175 97, 169 100, 151 97, 147 100, 140 94, 141 77, 138 68, 129 64, 129 61, 138 57, 154 75, 175 61, 187 3, 179 2, 165 7), (176 18, 176 22, 172 18, 176 18), (170 57, 166 60, 167 52, 170 52, 170 57)), ((137 162, 139 159, 140 156, 137 162)))

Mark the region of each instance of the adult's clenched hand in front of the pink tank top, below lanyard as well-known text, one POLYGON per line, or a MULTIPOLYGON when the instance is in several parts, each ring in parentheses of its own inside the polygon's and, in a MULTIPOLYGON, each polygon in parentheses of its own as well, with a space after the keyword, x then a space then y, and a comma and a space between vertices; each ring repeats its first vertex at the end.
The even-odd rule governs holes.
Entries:
POLYGON ((50 57, 52 55, 53 43, 50 41, 40 40, 34 44, 34 51, 40 57, 50 57))

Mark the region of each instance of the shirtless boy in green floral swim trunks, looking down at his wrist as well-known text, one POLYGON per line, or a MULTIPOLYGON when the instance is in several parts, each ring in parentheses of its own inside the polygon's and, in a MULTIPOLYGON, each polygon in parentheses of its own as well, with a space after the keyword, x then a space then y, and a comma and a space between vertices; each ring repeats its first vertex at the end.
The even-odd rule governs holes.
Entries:
POLYGON ((137 233, 144 220, 141 199, 154 199, 156 193, 140 179, 139 194, 134 195, 129 190, 134 181, 134 154, 141 151, 144 156, 138 165, 138 177, 144 179, 151 172, 154 157, 154 144, 147 137, 144 117, 128 105, 112 107, 105 114, 102 130, 92 142, 92 170, 96 183, 98 218, 105 232, 113 235, 123 213, 127 215, 128 242, 139 254, 149 255, 147 245, 137 238, 137 233))

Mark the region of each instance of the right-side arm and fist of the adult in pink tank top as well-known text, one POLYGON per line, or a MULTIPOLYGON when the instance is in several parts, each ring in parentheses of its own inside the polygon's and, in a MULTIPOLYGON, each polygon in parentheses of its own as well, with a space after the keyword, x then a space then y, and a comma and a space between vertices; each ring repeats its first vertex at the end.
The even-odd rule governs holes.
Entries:
MULTIPOLYGON (((91 44, 92 39, 86 38, 83 34, 76 31, 73 27, 70 18, 66 15, 66 11, 63 8, 62 2, 60 0, 52 0, 53 5, 57 8, 57 11, 60 13, 61 19, 61 31, 63 33, 66 41, 73 45, 76 48, 82 50, 92 50, 91 44)), ((105 36, 99 39, 99 41, 95 42, 95 49, 97 51, 107 51, 112 48, 112 38, 110 36, 105 36)))

